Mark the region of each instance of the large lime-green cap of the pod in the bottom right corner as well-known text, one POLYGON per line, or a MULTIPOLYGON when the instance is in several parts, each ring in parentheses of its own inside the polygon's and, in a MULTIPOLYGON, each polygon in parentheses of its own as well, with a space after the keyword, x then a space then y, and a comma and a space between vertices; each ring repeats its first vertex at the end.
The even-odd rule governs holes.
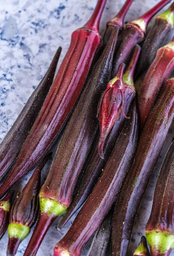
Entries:
POLYGON ((163 255, 174 248, 174 235, 161 231, 146 231, 146 238, 150 246, 151 254, 158 252, 163 255))

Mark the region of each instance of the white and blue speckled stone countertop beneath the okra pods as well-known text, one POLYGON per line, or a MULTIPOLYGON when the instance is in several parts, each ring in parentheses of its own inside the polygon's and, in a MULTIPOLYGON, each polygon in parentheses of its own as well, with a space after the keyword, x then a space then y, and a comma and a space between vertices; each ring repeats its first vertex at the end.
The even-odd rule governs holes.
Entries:
MULTIPOLYGON (((60 45, 63 47, 59 66, 69 47, 71 33, 86 23, 96 2, 97 0, 1 0, 0 141, 15 121, 34 88, 39 84, 57 47, 60 45)), ((116 15, 123 2, 123 0, 107 1, 100 25, 101 34, 103 34, 106 22, 116 15)), ((126 15, 125 22, 138 18, 156 3, 155 0, 135 0, 126 15)), ((172 35, 171 33, 169 37, 171 38, 172 35)), ((137 214, 130 250, 136 247, 144 233, 146 220, 150 214, 154 183, 173 138, 173 131, 174 127, 172 126, 162 156, 137 214)), ((51 162, 50 160, 42 171, 42 183, 49 171, 51 162)), ((28 174, 16 186, 16 190, 22 189, 30 176, 31 174, 28 174)), ((45 236, 37 253, 38 256, 53 255, 56 242, 67 232, 71 223, 61 231, 56 229, 60 219, 61 217, 54 222, 45 236)), ((24 254, 30 237, 31 234, 21 243, 17 256, 24 254)), ((6 255, 7 243, 8 235, 6 232, 0 241, 0 256, 6 255)), ((88 245, 84 249, 83 255, 87 254, 88 245)))

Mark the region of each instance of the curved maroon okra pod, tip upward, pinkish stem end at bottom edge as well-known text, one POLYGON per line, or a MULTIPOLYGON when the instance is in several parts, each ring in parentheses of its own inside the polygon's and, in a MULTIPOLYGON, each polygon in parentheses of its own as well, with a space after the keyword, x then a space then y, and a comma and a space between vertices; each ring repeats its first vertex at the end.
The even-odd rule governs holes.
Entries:
POLYGON ((136 104, 127 119, 107 162, 103 174, 97 182, 83 208, 75 218, 67 234, 55 245, 54 256, 80 256, 83 246, 101 225, 110 210, 130 168, 137 141, 138 119, 136 104))

